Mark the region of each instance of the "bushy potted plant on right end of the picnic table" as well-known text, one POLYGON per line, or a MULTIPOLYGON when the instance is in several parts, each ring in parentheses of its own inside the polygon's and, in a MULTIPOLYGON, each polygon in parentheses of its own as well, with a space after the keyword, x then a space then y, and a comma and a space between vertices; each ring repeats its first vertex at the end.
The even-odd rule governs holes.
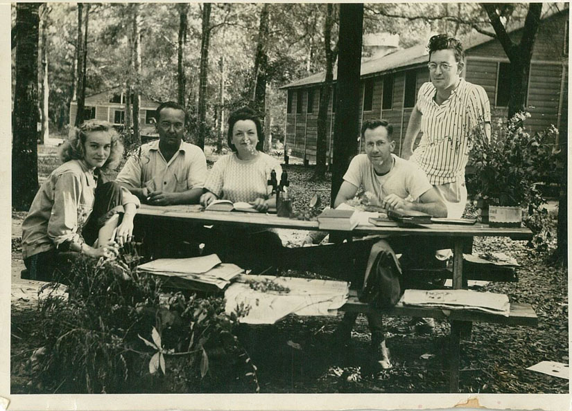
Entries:
POLYGON ((532 211, 545 202, 536 184, 548 170, 549 140, 557 130, 551 127, 531 136, 524 127, 529 117, 530 113, 515 114, 508 125, 499 125, 490 140, 480 131, 473 135, 470 158, 474 174, 468 183, 477 206, 483 207, 483 222, 488 219, 490 226, 520 227, 522 209, 532 211))

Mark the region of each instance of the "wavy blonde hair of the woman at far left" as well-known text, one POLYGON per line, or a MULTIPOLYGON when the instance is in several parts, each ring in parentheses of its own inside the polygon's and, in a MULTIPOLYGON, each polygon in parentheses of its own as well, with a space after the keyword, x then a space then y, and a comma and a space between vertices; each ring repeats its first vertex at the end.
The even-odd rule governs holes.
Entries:
POLYGON ((103 120, 87 120, 83 122, 80 127, 73 129, 71 136, 69 136, 60 148, 60 159, 62 163, 66 163, 70 160, 83 160, 85 157, 85 140, 87 139, 87 135, 94 131, 103 131, 104 133, 108 133, 111 137, 110 156, 100 170, 102 172, 115 170, 123 156, 123 142, 111 123, 103 120))

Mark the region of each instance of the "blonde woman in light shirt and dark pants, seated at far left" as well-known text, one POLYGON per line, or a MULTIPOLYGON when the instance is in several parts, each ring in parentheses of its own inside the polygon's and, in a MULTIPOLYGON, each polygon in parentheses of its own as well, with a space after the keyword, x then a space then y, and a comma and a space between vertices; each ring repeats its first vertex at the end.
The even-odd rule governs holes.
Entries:
POLYGON ((130 241, 139 199, 105 174, 122 154, 119 135, 101 120, 84 122, 62 145, 63 164, 42 184, 22 223, 22 257, 31 279, 52 280, 73 255, 67 252, 113 257, 130 241))

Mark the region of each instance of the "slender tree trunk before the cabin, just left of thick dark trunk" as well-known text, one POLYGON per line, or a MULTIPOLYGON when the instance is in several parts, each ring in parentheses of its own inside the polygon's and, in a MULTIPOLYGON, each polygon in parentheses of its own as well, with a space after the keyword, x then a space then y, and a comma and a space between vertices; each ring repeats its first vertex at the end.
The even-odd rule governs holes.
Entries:
MULTIPOLYGON (((333 83, 333 62, 336 60, 337 47, 331 49, 331 27, 333 26, 332 3, 327 4, 326 19, 324 21, 324 52, 326 54, 326 78, 320 86, 320 107, 318 109, 318 136, 316 140, 315 169, 313 179, 321 180, 326 175, 326 150, 328 131, 328 104, 333 83)), ((336 104, 336 102, 333 102, 336 104)), ((333 113, 332 113, 333 116, 333 113)))

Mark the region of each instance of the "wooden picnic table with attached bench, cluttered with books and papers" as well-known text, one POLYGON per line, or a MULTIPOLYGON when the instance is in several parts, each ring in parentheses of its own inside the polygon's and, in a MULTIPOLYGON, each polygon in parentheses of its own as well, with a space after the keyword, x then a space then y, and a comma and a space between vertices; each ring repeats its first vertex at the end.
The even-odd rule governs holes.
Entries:
MULTIPOLYGON (((139 215, 157 219, 181 219, 193 223, 221 224, 232 226, 254 226, 265 228, 290 228, 296 230, 319 230, 318 221, 303 221, 277 217, 274 214, 254 212, 221 212, 202 211, 200 206, 147 206, 139 209, 139 215)), ((471 226, 458 224, 428 224, 411 227, 377 227, 358 225, 351 231, 345 232, 351 241, 352 235, 420 235, 433 237, 447 237, 453 243, 453 289, 462 289, 467 284, 462 271, 462 251, 467 239, 472 237, 510 237, 512 239, 530 239, 532 232, 528 228, 496 228, 487 224, 475 223, 471 226)), ((367 304, 358 302, 356 295, 350 295, 346 304, 346 311, 370 311, 367 304)), ((453 311, 449 316, 439 309, 422 309, 417 307, 404 307, 397 305, 392 309, 382 311, 388 316, 417 316, 448 318, 451 322, 450 335, 450 392, 459 390, 459 363, 460 363, 460 336, 462 329, 466 329, 471 322, 496 322, 504 325, 537 325, 535 311, 527 304, 511 304, 510 316, 495 316, 475 311, 453 311)))

